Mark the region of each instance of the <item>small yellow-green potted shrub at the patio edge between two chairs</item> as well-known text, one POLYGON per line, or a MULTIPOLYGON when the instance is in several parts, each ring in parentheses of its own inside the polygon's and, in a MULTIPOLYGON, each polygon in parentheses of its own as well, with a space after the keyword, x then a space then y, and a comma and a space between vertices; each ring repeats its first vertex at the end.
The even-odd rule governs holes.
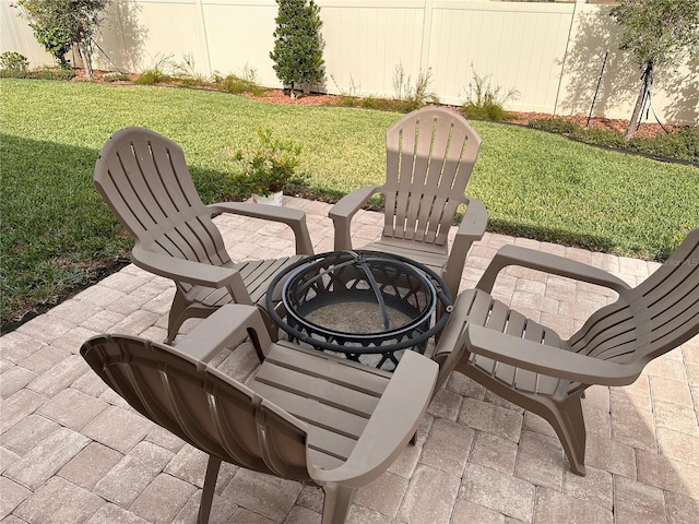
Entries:
POLYGON ((272 138, 270 129, 258 129, 258 143, 250 150, 237 150, 235 160, 241 172, 234 176, 240 190, 265 196, 282 191, 288 183, 301 183, 296 175, 300 145, 272 138))

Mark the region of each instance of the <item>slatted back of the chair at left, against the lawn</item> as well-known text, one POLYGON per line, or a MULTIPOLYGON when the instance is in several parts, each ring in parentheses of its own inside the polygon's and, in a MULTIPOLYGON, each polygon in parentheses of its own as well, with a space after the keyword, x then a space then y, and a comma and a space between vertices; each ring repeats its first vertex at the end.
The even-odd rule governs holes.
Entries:
POLYGON ((117 131, 99 153, 93 180, 145 249, 214 265, 232 263, 175 142, 143 128, 117 131))

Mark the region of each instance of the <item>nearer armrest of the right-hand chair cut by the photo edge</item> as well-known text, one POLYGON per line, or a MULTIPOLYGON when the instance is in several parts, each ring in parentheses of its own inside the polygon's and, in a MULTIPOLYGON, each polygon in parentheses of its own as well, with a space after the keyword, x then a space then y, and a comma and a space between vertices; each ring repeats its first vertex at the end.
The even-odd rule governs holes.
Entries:
POLYGON ((601 360, 526 341, 475 324, 466 324, 466 350, 494 360, 582 384, 628 385, 642 368, 601 360))

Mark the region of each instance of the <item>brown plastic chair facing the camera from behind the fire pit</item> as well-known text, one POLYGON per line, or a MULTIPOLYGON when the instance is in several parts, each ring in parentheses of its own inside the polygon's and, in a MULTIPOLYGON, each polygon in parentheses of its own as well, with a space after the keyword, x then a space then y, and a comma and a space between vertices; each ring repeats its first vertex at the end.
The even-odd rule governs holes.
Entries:
POLYGON ((452 110, 425 107, 406 115, 386 133, 383 186, 357 189, 332 206, 335 249, 352 249, 353 216, 375 193, 386 196, 381 239, 362 249, 408 257, 437 272, 459 293, 466 253, 485 233, 483 204, 464 194, 481 147, 481 138, 452 110), (457 209, 466 213, 449 250, 449 229, 457 209))

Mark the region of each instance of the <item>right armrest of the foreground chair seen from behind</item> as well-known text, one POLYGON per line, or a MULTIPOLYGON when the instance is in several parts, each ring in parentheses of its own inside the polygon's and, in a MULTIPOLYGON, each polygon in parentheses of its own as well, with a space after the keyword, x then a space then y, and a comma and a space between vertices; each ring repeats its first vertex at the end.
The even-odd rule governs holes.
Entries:
POLYGON ((406 350, 347 461, 325 471, 309 460, 311 478, 321 485, 359 488, 381 476, 415 434, 433 397, 437 371, 436 362, 406 350))

